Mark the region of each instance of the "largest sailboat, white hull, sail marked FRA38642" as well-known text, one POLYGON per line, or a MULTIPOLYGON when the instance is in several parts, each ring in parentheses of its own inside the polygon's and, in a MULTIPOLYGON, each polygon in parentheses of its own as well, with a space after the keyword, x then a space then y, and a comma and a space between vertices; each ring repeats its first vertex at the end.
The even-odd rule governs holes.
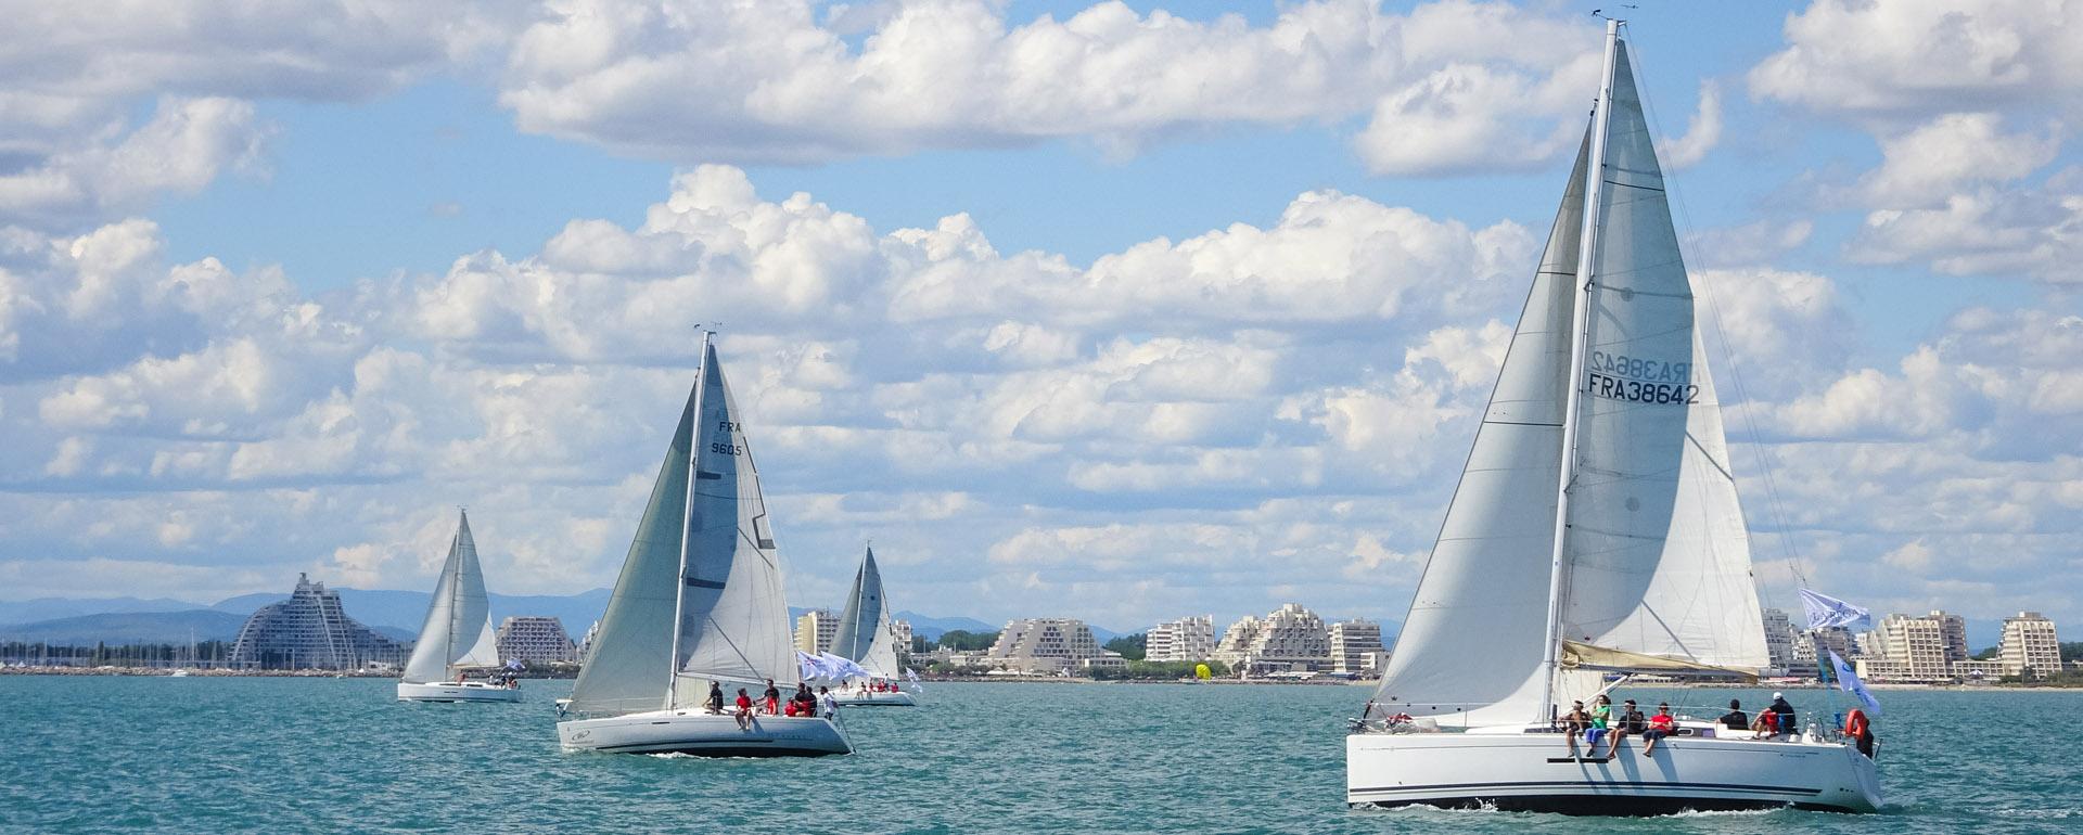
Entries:
MULTIPOLYGON (((1750 539, 1618 21, 1598 106, 1346 800, 1579 814, 1871 812, 1852 741, 1679 720, 1641 756, 1571 754, 1560 706, 1629 675, 1766 666, 1750 539)), ((1583 752, 1579 752, 1583 754, 1583 752)))

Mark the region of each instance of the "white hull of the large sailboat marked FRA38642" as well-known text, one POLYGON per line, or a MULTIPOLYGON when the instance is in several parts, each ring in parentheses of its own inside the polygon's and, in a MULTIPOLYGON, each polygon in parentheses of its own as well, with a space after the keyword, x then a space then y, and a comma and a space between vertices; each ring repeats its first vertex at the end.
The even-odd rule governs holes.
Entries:
POLYGON ((1629 737, 1610 760, 1571 758, 1548 729, 1354 733, 1346 737, 1346 802, 1564 814, 1873 812, 1881 804, 1873 760, 1846 743, 1731 733, 1737 737, 1671 737, 1656 743, 1654 758, 1629 737))

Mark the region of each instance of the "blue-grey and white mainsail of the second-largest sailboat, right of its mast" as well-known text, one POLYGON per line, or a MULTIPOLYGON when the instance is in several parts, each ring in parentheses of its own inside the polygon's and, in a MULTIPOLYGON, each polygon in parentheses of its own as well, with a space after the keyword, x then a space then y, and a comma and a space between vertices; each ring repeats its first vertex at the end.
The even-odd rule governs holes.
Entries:
MULTIPOLYGON (((702 369, 679 668, 698 679, 794 681, 787 593, 760 473, 714 348, 702 369)), ((700 704, 704 695, 681 687, 677 702, 700 704)))

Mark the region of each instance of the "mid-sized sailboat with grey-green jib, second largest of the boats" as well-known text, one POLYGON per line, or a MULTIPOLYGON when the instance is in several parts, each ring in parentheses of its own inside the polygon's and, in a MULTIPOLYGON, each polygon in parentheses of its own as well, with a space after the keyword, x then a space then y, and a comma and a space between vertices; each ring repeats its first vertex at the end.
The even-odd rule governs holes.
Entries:
MULTIPOLYGON (((735 693, 796 683, 787 596, 760 473, 708 333, 635 541, 556 735, 564 750, 823 756, 852 741, 823 716, 752 716, 735 693), (710 712, 710 685, 727 693, 710 712)), ((785 693, 783 693, 785 698, 785 693)))

